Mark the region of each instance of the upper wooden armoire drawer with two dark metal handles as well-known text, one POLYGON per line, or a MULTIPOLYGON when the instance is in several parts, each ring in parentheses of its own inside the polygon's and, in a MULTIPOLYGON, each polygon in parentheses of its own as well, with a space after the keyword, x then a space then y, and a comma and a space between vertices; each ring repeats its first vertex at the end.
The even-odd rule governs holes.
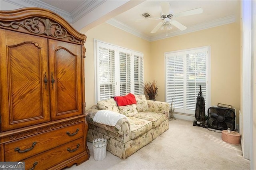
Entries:
POLYGON ((84 124, 77 123, 4 144, 5 161, 20 161, 84 136, 84 124))

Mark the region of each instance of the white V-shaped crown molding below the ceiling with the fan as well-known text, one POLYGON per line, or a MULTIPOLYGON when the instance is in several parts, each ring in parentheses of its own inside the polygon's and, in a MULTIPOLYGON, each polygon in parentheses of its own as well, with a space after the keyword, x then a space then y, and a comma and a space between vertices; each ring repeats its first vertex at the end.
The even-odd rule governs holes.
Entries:
POLYGON ((117 27, 121 30, 124 30, 126 32, 129 32, 130 34, 138 36, 138 37, 140 37, 144 40, 147 40, 149 42, 153 42, 153 41, 156 41, 156 40, 162 40, 162 39, 165 39, 165 38, 170 38, 170 37, 174 37, 174 36, 188 34, 190 32, 196 32, 196 31, 205 30, 205 29, 208 29, 208 28, 216 27, 216 26, 231 24, 235 21, 236 21, 236 18, 235 18, 235 16, 232 15, 232 16, 227 16, 227 17, 216 19, 216 20, 212 20, 212 21, 209 21, 209 22, 204 22, 202 24, 198 24, 198 25, 189 27, 184 31, 179 30, 179 31, 175 31, 175 32, 170 32, 170 33, 168 33, 168 36, 166 36, 166 34, 162 34, 160 36, 153 36, 153 37, 146 36, 145 34, 140 33, 138 30, 130 28, 130 26, 128 26, 126 24, 123 24, 122 22, 119 22, 119 21, 114 20, 114 19, 110 19, 110 20, 106 21, 106 23, 108 23, 112 26, 115 26, 115 27, 117 27))

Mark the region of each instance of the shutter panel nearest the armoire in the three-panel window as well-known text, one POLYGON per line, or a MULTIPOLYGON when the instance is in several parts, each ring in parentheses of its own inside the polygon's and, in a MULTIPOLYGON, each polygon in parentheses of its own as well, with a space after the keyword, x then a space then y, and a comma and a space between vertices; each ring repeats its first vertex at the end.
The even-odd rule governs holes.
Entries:
POLYGON ((116 95, 115 51, 99 48, 99 84, 100 100, 106 100, 116 95))

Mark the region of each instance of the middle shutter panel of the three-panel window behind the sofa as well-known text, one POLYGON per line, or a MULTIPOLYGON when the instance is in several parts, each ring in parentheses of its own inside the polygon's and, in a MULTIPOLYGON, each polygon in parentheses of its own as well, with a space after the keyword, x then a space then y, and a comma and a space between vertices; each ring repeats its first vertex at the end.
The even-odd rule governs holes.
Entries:
POLYGON ((131 55, 119 52, 120 66, 120 96, 130 93, 132 90, 131 81, 131 55))

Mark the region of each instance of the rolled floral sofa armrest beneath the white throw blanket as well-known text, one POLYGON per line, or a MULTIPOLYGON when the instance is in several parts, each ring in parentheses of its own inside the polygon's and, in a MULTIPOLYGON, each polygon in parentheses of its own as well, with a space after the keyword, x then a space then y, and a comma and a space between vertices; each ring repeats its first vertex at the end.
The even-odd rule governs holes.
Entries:
POLYGON ((128 134, 130 136, 130 123, 127 118, 120 119, 115 126, 104 125, 93 121, 94 115, 98 112, 97 109, 88 109, 86 111, 86 121, 89 124, 103 128, 107 131, 118 133, 120 135, 128 134))

